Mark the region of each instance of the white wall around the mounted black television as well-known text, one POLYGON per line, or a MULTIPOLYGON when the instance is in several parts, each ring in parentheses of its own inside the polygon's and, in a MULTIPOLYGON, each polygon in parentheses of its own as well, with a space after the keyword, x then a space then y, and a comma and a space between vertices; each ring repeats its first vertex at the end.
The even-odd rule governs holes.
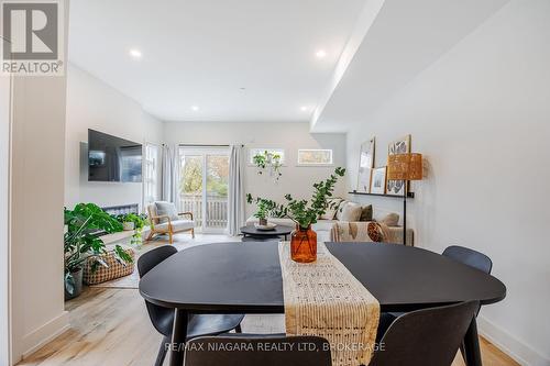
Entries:
POLYGON ((69 64, 67 79, 65 206, 141 204, 142 184, 88 181, 88 129, 139 143, 160 143, 162 123, 136 101, 74 64, 69 64))

